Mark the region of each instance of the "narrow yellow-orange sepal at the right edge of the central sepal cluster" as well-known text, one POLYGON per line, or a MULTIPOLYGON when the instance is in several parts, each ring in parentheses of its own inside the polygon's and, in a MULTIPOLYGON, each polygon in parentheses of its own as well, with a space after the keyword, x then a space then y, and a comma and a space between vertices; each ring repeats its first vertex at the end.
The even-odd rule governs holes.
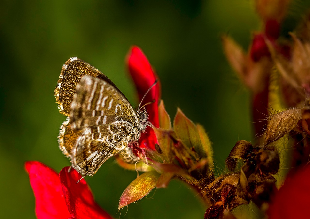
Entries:
POLYGON ((197 124, 197 131, 198 131, 198 134, 201 140, 201 148, 198 147, 198 148, 195 148, 195 150, 200 158, 208 159, 209 169, 213 169, 214 163, 213 163, 212 143, 205 129, 200 124, 197 124))

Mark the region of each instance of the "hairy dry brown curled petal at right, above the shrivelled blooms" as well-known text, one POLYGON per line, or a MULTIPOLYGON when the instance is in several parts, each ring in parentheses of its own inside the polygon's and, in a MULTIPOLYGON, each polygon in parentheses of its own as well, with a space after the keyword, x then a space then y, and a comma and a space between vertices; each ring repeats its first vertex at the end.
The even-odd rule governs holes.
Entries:
POLYGON ((288 134, 300 119, 300 108, 285 110, 271 115, 268 119, 264 145, 268 145, 288 134))

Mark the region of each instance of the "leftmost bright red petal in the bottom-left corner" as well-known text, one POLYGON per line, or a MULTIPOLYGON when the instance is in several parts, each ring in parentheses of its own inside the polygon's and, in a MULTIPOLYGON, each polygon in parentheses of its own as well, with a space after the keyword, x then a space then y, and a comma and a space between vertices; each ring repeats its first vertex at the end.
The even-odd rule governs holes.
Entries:
POLYGON ((30 184, 36 197, 38 219, 69 218, 58 174, 38 161, 25 163, 30 184))

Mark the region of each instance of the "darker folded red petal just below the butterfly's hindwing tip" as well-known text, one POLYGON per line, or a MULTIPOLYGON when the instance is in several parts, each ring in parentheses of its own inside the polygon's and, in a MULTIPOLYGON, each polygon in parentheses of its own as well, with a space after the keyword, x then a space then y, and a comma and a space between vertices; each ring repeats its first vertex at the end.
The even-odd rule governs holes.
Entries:
POLYGON ((74 169, 68 172, 68 169, 69 167, 63 168, 59 173, 59 177, 69 212, 72 214, 73 218, 112 218, 95 202, 86 181, 82 179, 77 183, 77 181, 81 179, 81 175, 74 169))

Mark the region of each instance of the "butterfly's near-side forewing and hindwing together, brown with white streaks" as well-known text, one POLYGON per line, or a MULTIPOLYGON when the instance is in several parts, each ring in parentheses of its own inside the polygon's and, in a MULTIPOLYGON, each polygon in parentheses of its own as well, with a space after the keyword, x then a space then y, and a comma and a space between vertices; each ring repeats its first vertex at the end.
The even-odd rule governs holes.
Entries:
POLYGON ((83 131, 70 154, 72 167, 83 175, 95 174, 137 135, 138 118, 127 99, 108 82, 90 75, 76 87, 69 118, 74 130, 83 131))

